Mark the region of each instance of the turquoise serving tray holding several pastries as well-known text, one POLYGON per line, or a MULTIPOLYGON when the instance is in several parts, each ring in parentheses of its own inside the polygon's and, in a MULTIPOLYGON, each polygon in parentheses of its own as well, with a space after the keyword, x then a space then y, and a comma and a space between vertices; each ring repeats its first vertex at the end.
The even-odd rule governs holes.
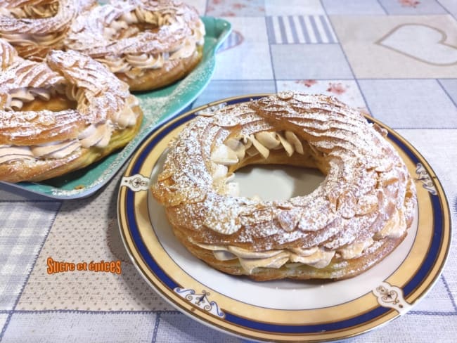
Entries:
POLYGON ((214 55, 230 34, 231 25, 226 20, 211 17, 202 17, 202 21, 206 29, 202 60, 187 77, 171 86, 135 93, 143 110, 143 123, 139 134, 125 148, 89 167, 55 179, 39 183, 2 183, 56 199, 84 198, 104 186, 160 122, 186 110, 210 82, 215 67, 214 55))

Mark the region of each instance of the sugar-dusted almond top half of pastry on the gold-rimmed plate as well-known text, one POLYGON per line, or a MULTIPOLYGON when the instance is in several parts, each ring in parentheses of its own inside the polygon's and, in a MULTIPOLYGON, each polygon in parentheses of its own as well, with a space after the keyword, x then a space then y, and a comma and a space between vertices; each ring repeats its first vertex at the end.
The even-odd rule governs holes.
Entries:
POLYGON ((378 233, 390 221, 392 207, 404 209, 407 219, 413 215, 414 186, 399 161, 394 148, 355 110, 335 98, 288 92, 197 118, 177 138, 152 190, 180 213, 169 216, 172 225, 186 228, 195 242, 257 252, 291 247, 337 251, 378 233), (281 130, 309 147, 311 157, 305 153, 302 158, 315 160, 326 172, 313 193, 266 202, 214 188, 217 163, 208 159, 228 137, 281 130))

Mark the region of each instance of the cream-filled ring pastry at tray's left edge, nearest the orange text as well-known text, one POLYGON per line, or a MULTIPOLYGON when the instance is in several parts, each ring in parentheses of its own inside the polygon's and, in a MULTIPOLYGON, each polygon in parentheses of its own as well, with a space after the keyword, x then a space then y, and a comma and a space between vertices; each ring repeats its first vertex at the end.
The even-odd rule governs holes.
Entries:
POLYGON ((20 58, 0 39, 0 180, 41 181, 126 145, 141 124, 127 84, 80 53, 20 58))

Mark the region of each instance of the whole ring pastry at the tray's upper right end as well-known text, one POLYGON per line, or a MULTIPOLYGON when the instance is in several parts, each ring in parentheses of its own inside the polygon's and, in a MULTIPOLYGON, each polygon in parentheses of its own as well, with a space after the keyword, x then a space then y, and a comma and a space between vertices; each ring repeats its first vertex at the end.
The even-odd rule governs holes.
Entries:
POLYGON ((110 1, 80 15, 65 46, 107 65, 132 91, 155 89, 190 72, 202 57, 205 25, 179 1, 110 1))

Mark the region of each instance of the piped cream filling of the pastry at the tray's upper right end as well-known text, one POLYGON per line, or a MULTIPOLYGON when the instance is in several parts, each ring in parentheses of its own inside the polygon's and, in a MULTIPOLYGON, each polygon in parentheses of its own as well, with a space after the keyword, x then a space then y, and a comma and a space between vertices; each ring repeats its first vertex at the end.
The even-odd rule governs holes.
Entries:
MULTIPOLYGON (((148 23, 157 27, 169 25, 172 32, 173 27, 184 25, 181 23, 181 17, 170 15, 168 13, 150 12, 141 8, 136 8, 134 11, 124 13, 118 20, 113 20, 110 26, 105 27, 103 35, 106 39, 113 39, 119 30, 126 30, 124 35, 131 36, 138 33, 138 30, 129 27, 131 24, 148 23), (130 32, 129 32, 130 31, 130 32)), ((112 72, 124 73, 127 77, 141 77, 145 70, 159 69, 165 65, 167 60, 177 60, 188 58, 195 52, 196 46, 202 46, 205 43, 205 25, 201 20, 192 32, 191 37, 188 37, 175 51, 167 51, 162 53, 127 53, 120 56, 105 56, 97 58, 98 61, 108 65, 112 72)))

